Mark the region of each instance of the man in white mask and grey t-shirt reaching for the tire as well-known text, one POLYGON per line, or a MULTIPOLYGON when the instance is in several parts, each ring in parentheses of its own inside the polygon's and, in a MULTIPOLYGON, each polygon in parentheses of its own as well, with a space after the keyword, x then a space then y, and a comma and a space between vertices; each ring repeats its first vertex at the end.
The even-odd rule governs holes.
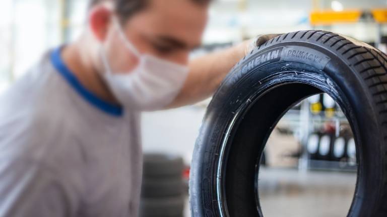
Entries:
POLYGON ((251 49, 188 62, 209 2, 91 1, 80 39, 0 97, 0 216, 138 215, 140 112, 209 97, 251 49))

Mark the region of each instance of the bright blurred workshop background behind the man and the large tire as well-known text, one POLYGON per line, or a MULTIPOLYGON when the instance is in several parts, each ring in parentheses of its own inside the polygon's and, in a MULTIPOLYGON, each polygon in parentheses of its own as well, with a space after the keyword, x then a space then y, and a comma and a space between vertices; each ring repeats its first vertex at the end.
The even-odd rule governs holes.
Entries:
MULTIPOLYGON (((80 34, 87 3, 0 2, 0 92, 47 49, 80 34)), ((309 29, 348 35, 387 51, 386 0, 217 0, 209 14, 203 46, 192 58, 260 34, 309 29)), ((144 151, 181 156, 187 179, 209 101, 144 114, 144 151)), ((355 184, 356 149, 340 107, 327 94, 300 102, 280 121, 265 151, 259 184, 265 216, 345 216, 355 184)), ((187 210, 188 203, 185 216, 187 210)))

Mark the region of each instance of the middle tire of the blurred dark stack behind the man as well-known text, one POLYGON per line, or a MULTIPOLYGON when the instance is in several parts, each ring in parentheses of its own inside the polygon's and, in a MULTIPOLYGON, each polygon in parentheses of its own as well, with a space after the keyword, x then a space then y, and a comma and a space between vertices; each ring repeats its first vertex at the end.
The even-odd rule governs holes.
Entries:
POLYGON ((181 196, 184 192, 182 178, 143 179, 141 195, 144 198, 181 196))

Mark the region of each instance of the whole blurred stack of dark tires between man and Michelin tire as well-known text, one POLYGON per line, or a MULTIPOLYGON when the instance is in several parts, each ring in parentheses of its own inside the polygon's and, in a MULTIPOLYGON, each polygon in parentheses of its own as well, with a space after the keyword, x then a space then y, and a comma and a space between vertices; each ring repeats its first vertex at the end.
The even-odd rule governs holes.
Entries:
POLYGON ((185 182, 181 157, 145 154, 140 217, 182 217, 185 182))

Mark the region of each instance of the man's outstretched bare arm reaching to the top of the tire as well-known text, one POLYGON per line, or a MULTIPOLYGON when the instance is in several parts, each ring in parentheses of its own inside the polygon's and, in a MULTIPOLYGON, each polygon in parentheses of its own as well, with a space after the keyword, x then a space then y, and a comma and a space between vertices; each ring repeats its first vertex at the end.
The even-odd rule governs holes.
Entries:
POLYGON ((190 61, 188 78, 176 99, 167 108, 193 104, 210 97, 240 59, 256 46, 260 46, 279 35, 261 35, 224 51, 190 61))

